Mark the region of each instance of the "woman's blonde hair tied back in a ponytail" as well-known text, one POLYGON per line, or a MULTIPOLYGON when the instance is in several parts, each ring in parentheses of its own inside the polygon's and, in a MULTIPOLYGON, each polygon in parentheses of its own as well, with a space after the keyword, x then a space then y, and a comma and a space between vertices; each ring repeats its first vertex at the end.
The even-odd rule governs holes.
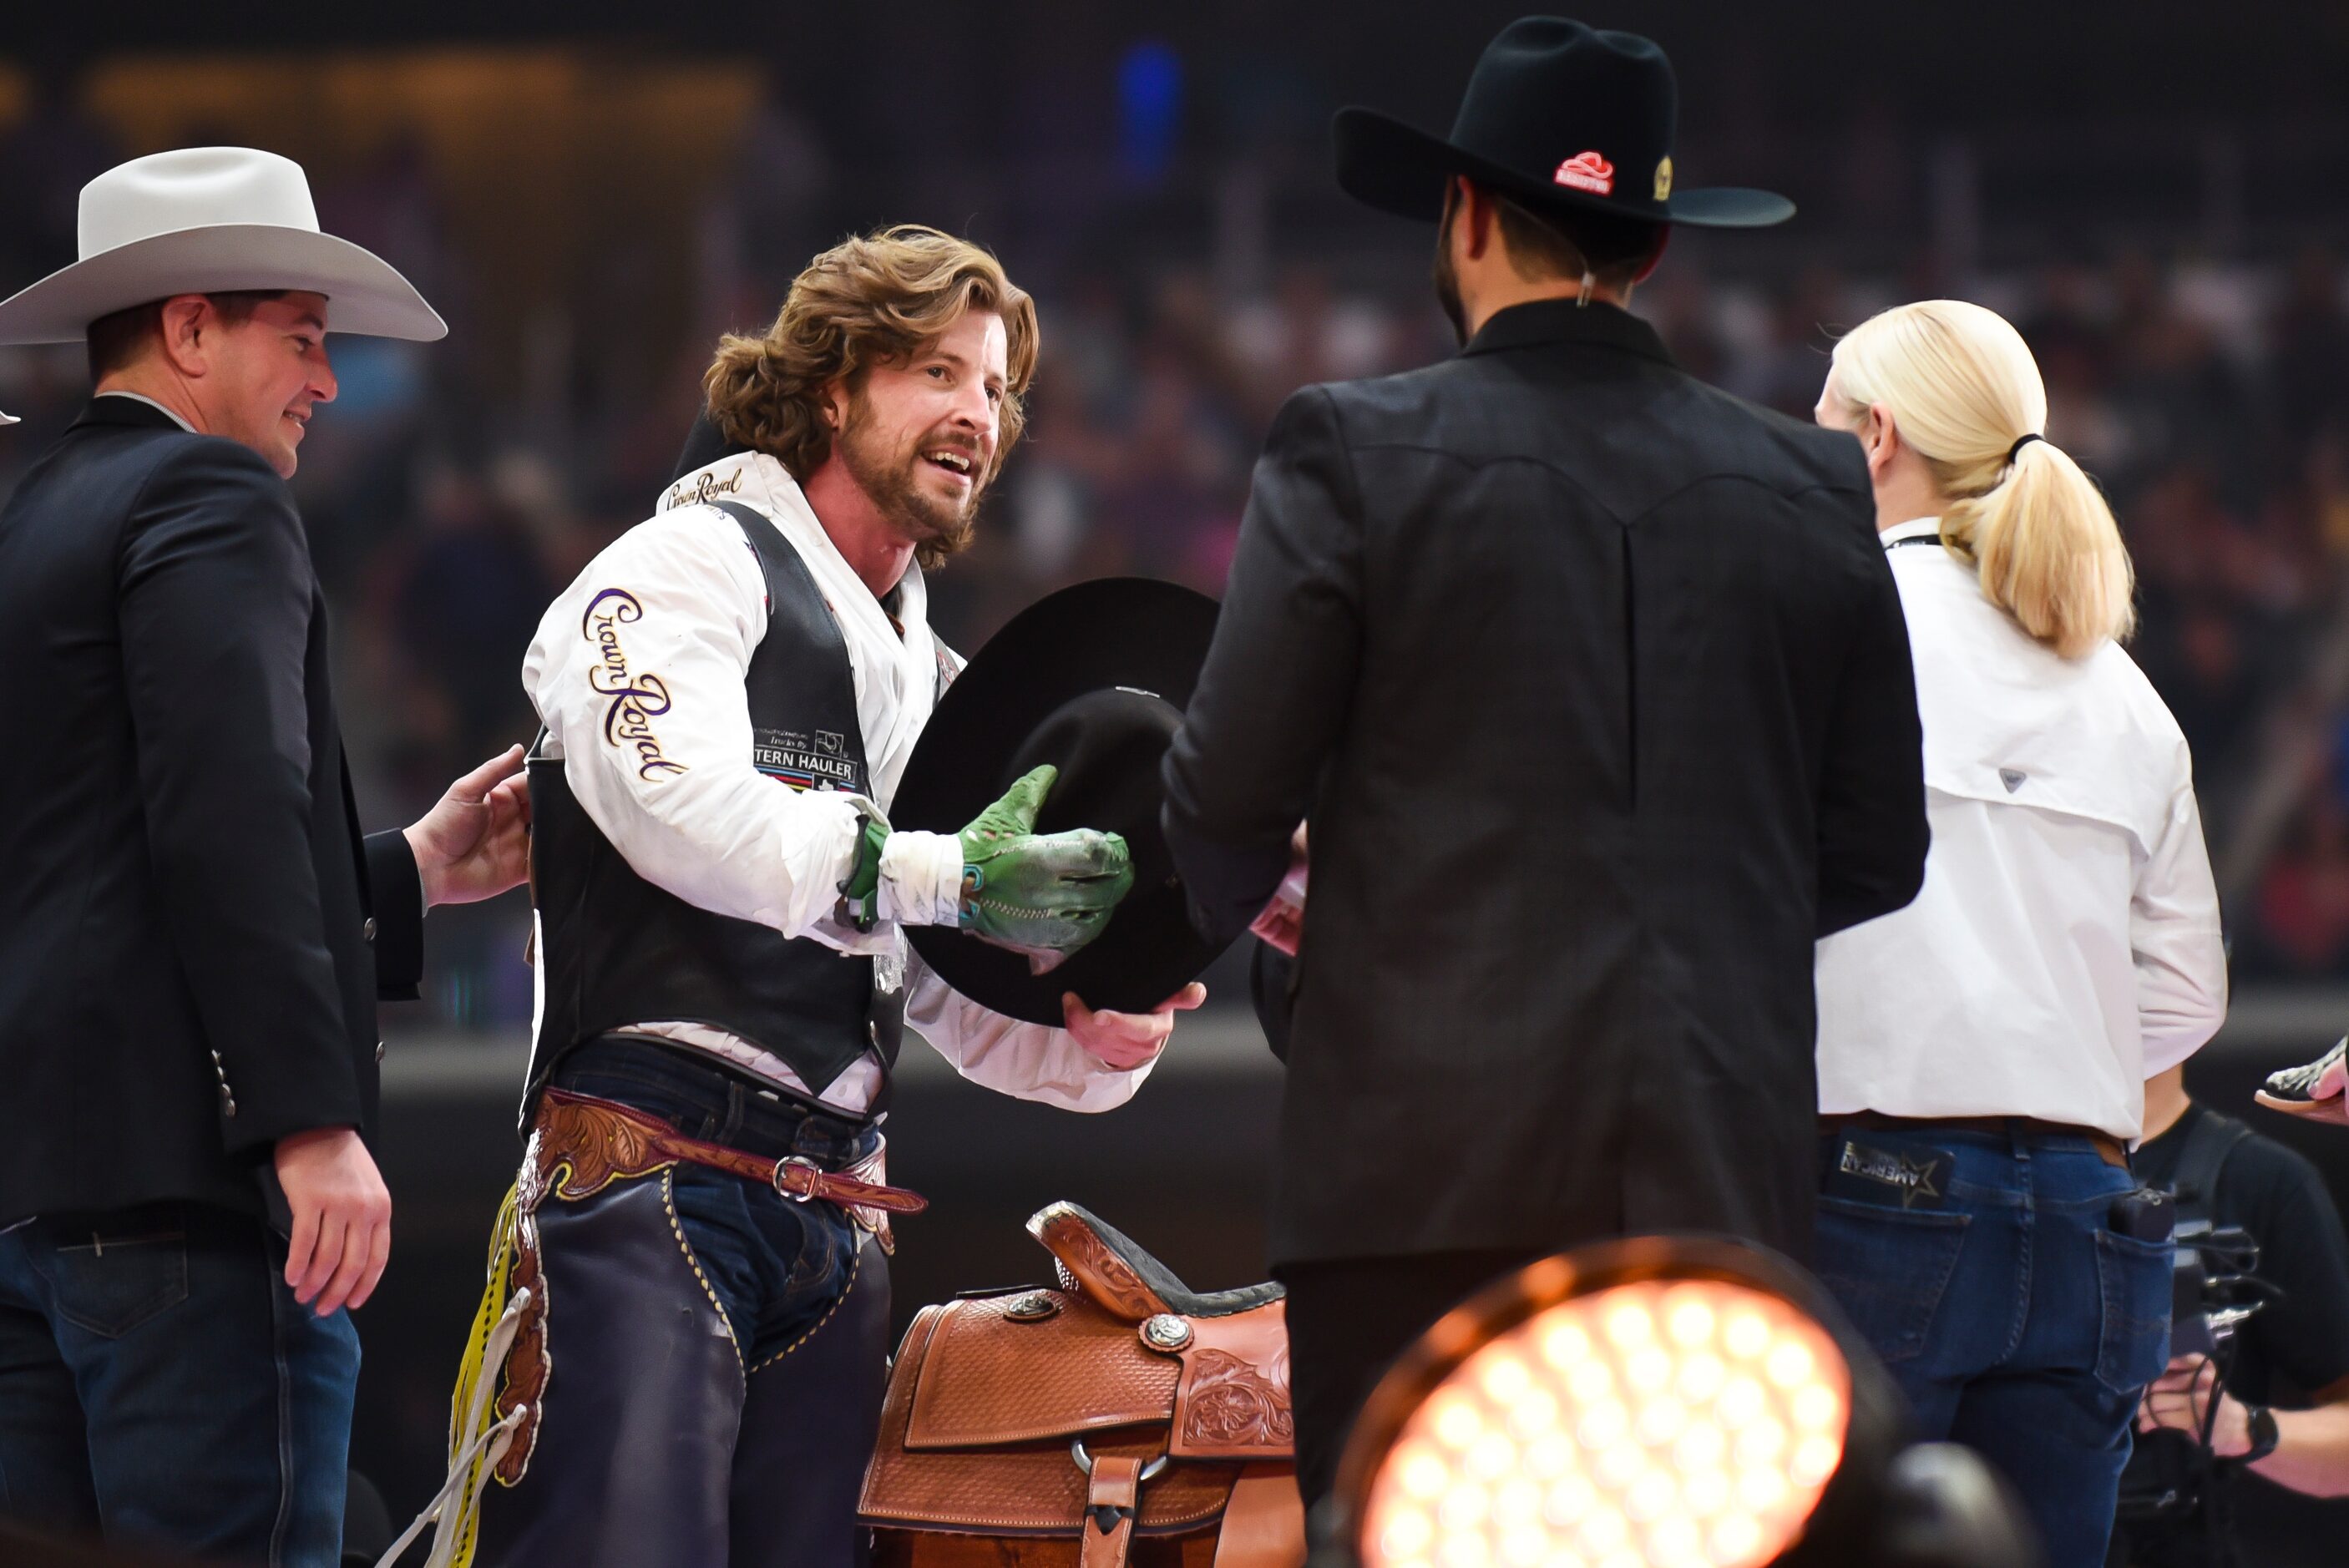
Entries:
POLYGON ((2032 638, 2077 660, 2128 636, 2121 526, 2079 462, 2037 437, 2046 387, 2004 317, 1966 300, 1870 317, 1835 345, 1832 394, 1853 423, 1884 404, 1945 498, 1940 542, 2032 638))

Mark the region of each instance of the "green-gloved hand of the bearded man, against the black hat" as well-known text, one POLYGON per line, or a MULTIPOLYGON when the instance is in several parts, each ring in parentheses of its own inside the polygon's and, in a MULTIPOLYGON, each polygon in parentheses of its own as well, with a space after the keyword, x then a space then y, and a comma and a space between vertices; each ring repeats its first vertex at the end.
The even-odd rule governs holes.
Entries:
POLYGON ((963 930, 1027 953, 1038 974, 1099 937, 1135 885, 1116 833, 1036 833, 1057 777, 1052 765, 1031 768, 961 831, 963 930))

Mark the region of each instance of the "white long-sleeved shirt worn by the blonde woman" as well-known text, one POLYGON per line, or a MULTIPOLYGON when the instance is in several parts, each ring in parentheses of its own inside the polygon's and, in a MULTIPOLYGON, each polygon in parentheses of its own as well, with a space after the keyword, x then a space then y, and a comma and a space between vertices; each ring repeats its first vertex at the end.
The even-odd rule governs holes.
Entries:
POLYGON ((2227 1016, 2187 742, 2128 653, 2058 657, 1936 533, 1884 533, 1933 852, 1914 904, 1818 944, 1818 1106, 2133 1141, 2227 1016))

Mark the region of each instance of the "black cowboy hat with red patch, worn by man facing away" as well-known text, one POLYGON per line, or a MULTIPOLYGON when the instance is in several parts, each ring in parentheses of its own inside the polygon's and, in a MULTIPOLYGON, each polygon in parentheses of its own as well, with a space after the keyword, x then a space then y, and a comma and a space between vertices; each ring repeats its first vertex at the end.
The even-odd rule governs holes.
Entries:
POLYGON ((1381 211, 1431 223, 1454 174, 1536 214, 1604 211, 1696 228, 1766 228, 1795 216, 1795 204, 1769 190, 1675 190, 1677 115, 1672 61, 1647 38, 1520 16, 1478 59, 1449 138, 1372 108, 1341 108, 1332 124, 1337 183, 1381 211))

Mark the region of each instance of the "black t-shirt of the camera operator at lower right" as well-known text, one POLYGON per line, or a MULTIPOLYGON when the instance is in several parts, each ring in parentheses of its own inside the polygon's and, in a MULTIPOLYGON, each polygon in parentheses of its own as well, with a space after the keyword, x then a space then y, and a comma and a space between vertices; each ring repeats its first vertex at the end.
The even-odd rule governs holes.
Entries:
MULTIPOLYGON (((2189 1106, 2138 1148, 2147 1188, 2173 1188, 2187 1134, 2213 1115, 2189 1106)), ((2349 1235, 2323 1176, 2300 1153, 2250 1134, 2220 1167, 2208 1204, 2217 1228, 2241 1225, 2260 1244, 2260 1279, 2281 1291, 2236 1331, 2227 1392, 2248 1404, 2307 1406, 2349 1378, 2349 1235)))

